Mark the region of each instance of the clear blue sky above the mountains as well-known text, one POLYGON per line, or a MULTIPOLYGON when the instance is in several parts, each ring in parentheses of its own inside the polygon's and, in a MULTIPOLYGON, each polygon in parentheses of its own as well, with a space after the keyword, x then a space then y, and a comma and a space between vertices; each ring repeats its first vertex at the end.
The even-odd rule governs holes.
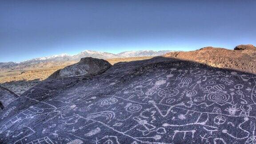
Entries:
POLYGON ((0 62, 256 45, 256 0, 0 0, 0 62))

